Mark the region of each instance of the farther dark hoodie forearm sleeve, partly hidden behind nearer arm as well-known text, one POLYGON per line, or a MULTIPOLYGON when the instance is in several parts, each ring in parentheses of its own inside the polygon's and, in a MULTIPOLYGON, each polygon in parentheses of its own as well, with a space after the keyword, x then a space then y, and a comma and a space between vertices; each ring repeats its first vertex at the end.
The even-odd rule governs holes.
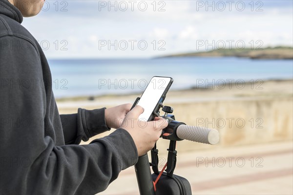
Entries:
POLYGON ((105 108, 78 109, 77 114, 60 115, 65 144, 80 144, 90 137, 109 131, 105 121, 105 108))

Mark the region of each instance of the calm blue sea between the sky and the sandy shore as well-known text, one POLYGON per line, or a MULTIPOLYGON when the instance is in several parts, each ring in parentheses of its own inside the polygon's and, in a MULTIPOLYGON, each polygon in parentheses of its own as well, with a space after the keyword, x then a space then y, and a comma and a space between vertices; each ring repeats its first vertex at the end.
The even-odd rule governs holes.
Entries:
POLYGON ((153 76, 171 77, 170 90, 293 79, 291 59, 157 58, 49 59, 56 98, 142 93, 153 76))

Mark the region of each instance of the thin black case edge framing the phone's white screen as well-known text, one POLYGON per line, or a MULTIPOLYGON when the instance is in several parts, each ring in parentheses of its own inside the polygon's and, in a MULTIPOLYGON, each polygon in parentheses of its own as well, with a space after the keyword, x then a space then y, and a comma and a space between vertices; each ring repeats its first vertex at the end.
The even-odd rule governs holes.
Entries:
MULTIPOLYGON (((154 76, 154 77, 160 77, 160 76, 154 76)), ((152 77, 152 78, 154 78, 154 77, 152 77)), ((162 78, 171 78, 171 77, 162 77, 162 78)), ((160 111, 160 108, 163 107, 163 102, 164 102, 164 100, 165 100, 165 98, 166 98, 167 92, 169 91, 169 89, 170 89, 172 83, 173 83, 173 78, 170 79, 170 82, 168 83, 168 85, 167 85, 167 87, 166 87, 166 89, 165 89, 163 95, 162 95, 161 98, 158 100, 157 105, 155 106, 155 108, 154 108, 152 114, 150 115, 150 117, 148 118, 147 121, 151 121, 151 120, 153 120, 155 117, 159 117, 159 116, 160 116, 160 112, 159 112, 159 111, 160 111)), ((148 83, 148 85, 149 85, 149 83, 148 83)), ((147 86, 148 86, 148 85, 147 85, 147 86)), ((146 86, 146 87, 147 87, 147 86, 146 86)), ((144 91, 144 93, 145 93, 145 91, 144 91)), ((142 96, 144 95, 144 93, 142 94, 142 96)), ((141 96, 141 97, 142 97, 142 96, 141 96)), ((136 100, 135 100, 134 104, 132 105, 131 109, 134 108, 134 106, 137 105, 137 103, 139 102, 139 100, 140 100, 140 98, 136 98, 136 100)))

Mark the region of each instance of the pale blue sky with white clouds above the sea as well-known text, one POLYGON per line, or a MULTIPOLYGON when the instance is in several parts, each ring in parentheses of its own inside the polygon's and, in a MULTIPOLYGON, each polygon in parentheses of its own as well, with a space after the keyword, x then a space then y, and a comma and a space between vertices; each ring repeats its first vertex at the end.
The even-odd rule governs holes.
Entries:
POLYGON ((46 0, 22 25, 48 59, 293 46, 292 0, 46 0))

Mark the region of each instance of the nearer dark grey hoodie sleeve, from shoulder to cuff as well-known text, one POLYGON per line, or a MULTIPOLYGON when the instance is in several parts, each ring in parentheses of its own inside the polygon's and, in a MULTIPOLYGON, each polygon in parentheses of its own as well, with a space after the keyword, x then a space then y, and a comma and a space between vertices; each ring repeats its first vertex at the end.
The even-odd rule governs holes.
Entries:
MULTIPOLYGON (((2 40, 26 41, 13 36, 2 40)), ((89 195, 104 191, 121 170, 136 163, 132 137, 117 129, 88 145, 56 146, 42 123, 51 122, 43 121, 45 89, 41 85, 20 88, 20 82, 27 86, 24 84, 31 80, 42 79, 39 54, 30 46, 0 51, 4 82, 0 93, 0 194, 89 195)))

